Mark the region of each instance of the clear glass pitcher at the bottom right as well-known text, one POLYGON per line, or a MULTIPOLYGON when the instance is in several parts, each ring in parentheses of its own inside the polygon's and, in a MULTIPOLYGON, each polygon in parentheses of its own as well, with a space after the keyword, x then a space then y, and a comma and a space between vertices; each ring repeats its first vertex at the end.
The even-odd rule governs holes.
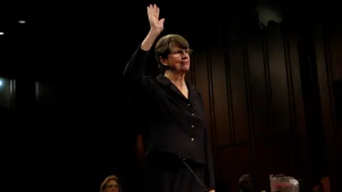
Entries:
POLYGON ((299 192, 299 182, 291 176, 271 175, 269 181, 271 192, 299 192))

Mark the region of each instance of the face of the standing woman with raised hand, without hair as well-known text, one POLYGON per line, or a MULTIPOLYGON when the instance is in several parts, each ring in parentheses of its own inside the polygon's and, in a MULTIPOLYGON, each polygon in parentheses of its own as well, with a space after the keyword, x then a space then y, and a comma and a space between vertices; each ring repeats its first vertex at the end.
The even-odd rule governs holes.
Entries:
POLYGON ((172 47, 171 53, 168 55, 167 59, 161 58, 163 65, 167 65, 180 73, 187 73, 190 69, 190 53, 189 49, 182 49, 175 45, 172 47))

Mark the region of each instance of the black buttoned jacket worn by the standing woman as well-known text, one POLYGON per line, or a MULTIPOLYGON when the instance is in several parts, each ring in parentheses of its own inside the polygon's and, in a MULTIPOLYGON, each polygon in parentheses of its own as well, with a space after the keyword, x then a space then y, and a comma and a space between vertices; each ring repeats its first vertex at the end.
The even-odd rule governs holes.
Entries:
POLYGON ((138 86, 137 96, 145 102, 149 123, 147 155, 166 152, 206 164, 207 187, 214 188, 212 150, 202 97, 189 82, 187 99, 164 75, 147 77, 145 64, 149 53, 139 46, 123 73, 124 80, 138 86))

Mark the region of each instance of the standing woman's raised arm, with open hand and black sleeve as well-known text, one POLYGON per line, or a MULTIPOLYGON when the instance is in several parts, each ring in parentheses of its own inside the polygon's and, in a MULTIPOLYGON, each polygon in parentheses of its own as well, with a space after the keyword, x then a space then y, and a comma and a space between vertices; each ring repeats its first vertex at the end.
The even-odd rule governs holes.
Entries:
POLYGON ((140 84, 144 84, 146 82, 145 64, 148 53, 150 53, 153 43, 164 29, 165 19, 162 18, 159 20, 159 13, 160 9, 157 7, 157 5, 147 6, 147 16, 148 21, 150 21, 150 31, 147 33, 144 41, 142 41, 139 48, 135 50, 128 61, 123 72, 123 77, 125 80, 132 80, 134 82, 139 82, 140 84))

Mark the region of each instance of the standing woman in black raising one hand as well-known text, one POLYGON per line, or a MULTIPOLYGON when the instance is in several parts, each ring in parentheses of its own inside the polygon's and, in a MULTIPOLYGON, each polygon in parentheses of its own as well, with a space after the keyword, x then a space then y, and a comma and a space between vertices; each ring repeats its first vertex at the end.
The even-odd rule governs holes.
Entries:
POLYGON ((155 55, 164 70, 157 78, 144 74, 147 56, 163 31, 160 9, 147 7, 150 31, 135 50, 124 71, 124 79, 137 86, 138 97, 146 104, 147 135, 146 191, 214 191, 214 169, 202 98, 185 81, 190 69, 189 43, 178 35, 157 41, 155 55), (184 164, 186 163, 186 164, 184 164), (192 171, 198 176, 196 178, 192 171))

